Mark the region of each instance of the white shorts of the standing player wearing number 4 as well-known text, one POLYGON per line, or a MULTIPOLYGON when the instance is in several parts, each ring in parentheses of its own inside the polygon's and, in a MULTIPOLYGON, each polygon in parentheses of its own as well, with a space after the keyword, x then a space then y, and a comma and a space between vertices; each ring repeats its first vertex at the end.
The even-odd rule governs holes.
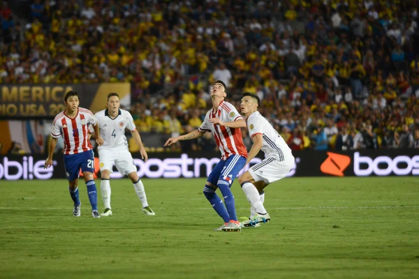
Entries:
POLYGON ((101 168, 101 172, 104 169, 108 169, 112 173, 114 164, 115 167, 117 167, 119 173, 122 175, 131 174, 131 172, 137 172, 137 167, 134 165, 133 156, 131 156, 131 153, 128 150, 99 150, 99 167, 101 168))

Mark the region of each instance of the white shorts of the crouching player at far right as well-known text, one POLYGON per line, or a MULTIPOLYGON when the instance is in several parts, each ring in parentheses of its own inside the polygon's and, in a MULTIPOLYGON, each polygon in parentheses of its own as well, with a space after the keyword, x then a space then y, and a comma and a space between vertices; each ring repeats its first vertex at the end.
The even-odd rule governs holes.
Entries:
POLYGON ((265 181, 265 183, 270 184, 279 179, 284 179, 293 167, 294 161, 295 159, 293 158, 292 160, 279 162, 275 158, 270 157, 253 165, 249 168, 249 172, 255 181, 265 181))

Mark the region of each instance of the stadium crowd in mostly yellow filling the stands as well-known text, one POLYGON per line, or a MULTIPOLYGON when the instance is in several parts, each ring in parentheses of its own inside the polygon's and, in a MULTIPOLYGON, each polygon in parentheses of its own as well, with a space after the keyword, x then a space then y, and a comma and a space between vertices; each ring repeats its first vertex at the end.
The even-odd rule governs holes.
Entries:
MULTIPOLYGON (((200 126, 220 79, 237 109, 242 92, 257 94, 293 150, 419 148, 417 7, 34 0, 22 24, 2 1, 0 82, 131 82, 140 133, 168 137, 200 126)), ((173 148, 216 147, 206 135, 173 148)))

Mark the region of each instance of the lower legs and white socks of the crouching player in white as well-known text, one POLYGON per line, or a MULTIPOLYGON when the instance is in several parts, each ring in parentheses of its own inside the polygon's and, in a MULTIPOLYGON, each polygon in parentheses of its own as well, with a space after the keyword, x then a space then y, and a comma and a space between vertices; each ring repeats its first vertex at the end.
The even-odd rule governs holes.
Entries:
POLYGON ((250 172, 244 172, 239 177, 239 183, 242 190, 251 204, 251 216, 249 220, 242 223, 245 227, 256 226, 258 223, 266 223, 270 221, 269 213, 263 206, 262 199, 265 198, 263 189, 267 186, 264 181, 255 181, 250 172), (261 197, 262 196, 262 197, 261 197))

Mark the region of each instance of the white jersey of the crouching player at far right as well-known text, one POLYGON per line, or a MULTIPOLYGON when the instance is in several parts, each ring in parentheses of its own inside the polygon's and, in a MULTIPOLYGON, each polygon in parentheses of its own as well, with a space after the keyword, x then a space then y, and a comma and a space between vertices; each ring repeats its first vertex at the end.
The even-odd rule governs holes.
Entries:
POLYGON ((273 157, 279 162, 294 160, 291 149, 284 139, 259 112, 253 112, 248 117, 247 128, 251 138, 256 134, 262 135, 262 151, 266 158, 273 157))

